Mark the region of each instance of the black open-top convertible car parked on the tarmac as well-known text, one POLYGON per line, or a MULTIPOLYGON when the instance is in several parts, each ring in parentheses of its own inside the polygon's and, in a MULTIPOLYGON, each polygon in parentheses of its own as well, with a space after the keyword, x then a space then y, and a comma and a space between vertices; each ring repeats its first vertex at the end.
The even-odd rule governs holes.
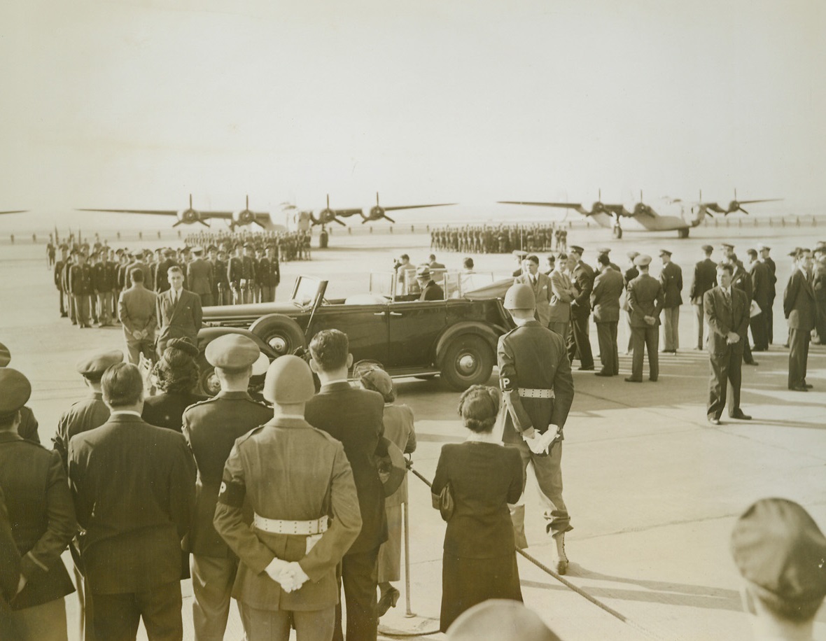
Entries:
MULTIPOLYGON (((395 276, 372 274, 369 292, 327 299, 329 282, 297 278, 288 302, 204 308, 203 349, 228 332, 249 335, 264 354, 277 358, 306 347, 320 330, 336 329, 349 337, 354 361, 373 360, 393 377, 441 375, 450 387, 464 390, 487 382, 496 363, 496 341, 514 327, 501 306, 512 279, 442 274, 444 300, 420 302, 395 276), (401 293, 396 293, 401 285, 401 293), (472 287, 472 288, 471 288, 472 287)), ((201 359, 202 391, 217 392, 206 359, 201 359)))

